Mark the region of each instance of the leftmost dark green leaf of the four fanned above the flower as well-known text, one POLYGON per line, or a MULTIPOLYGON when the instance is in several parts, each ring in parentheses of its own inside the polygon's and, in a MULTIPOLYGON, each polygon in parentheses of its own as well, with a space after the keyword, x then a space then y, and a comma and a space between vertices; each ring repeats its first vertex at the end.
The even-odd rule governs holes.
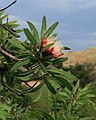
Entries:
POLYGON ((37 44, 34 36, 32 35, 32 33, 31 33, 27 28, 24 28, 24 33, 25 33, 27 39, 28 39, 33 45, 36 45, 36 44, 37 44))

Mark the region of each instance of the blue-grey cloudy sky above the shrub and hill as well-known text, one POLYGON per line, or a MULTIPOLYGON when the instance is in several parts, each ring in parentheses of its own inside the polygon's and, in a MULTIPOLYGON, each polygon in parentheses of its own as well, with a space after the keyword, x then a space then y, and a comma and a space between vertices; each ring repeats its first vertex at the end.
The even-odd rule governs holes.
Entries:
MULTIPOLYGON (((0 8, 10 2, 12 0, 0 0, 0 8)), ((48 26, 58 21, 57 37, 71 51, 96 46, 96 0, 17 0, 5 12, 11 20, 17 19, 22 28, 28 27, 28 20, 38 31, 44 15, 48 26)))

